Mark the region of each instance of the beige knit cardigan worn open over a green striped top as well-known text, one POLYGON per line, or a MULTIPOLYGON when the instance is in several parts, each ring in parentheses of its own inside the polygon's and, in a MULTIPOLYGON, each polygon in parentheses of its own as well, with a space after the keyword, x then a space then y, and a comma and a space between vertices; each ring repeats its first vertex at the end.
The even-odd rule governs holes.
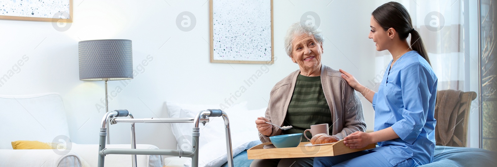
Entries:
MULTIPOLYGON (((288 105, 292 99, 293 89, 300 70, 297 70, 280 82, 276 83, 269 94, 269 104, 265 117, 275 125, 283 125, 288 111, 288 105)), ((325 93, 326 101, 330 106, 331 118, 333 119, 332 135, 339 139, 355 131, 366 130, 362 104, 355 90, 341 78, 339 71, 323 65, 321 67, 321 84, 325 93)), ((281 129, 273 126, 270 136, 281 135, 281 129)), ((261 142, 269 142, 269 137, 260 134, 261 142)))

